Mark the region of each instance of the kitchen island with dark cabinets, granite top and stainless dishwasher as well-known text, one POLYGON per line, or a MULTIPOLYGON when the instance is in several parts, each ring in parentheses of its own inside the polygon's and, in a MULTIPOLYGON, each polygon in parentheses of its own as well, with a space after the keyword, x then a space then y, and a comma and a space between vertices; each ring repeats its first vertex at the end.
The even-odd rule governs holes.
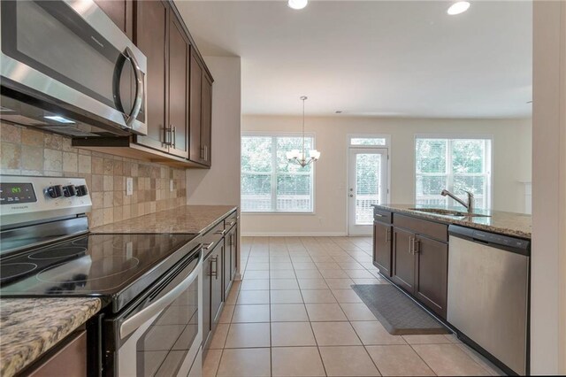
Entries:
POLYGON ((531 216, 374 205, 373 264, 505 373, 528 374, 531 216))

